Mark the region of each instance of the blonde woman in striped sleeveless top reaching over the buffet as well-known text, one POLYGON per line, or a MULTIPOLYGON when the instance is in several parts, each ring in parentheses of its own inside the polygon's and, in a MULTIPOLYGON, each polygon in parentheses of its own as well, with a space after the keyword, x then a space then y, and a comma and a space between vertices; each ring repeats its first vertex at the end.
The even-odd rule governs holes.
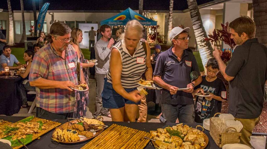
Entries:
POLYGON ((143 26, 137 20, 127 23, 124 39, 117 42, 112 50, 110 66, 102 92, 103 107, 109 108, 112 121, 135 121, 141 97, 136 83, 145 73, 152 80, 150 47, 145 42, 147 54, 140 40, 143 26), (148 55, 148 56, 146 56, 148 55))

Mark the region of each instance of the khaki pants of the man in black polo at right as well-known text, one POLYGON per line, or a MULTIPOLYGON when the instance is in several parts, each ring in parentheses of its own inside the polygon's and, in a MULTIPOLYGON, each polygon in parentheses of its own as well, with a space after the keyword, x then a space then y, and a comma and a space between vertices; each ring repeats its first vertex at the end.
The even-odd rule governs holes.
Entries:
POLYGON ((243 125, 243 128, 241 130, 240 143, 251 147, 250 136, 252 135, 253 128, 259 123, 260 117, 254 119, 235 118, 235 120, 240 121, 243 125))

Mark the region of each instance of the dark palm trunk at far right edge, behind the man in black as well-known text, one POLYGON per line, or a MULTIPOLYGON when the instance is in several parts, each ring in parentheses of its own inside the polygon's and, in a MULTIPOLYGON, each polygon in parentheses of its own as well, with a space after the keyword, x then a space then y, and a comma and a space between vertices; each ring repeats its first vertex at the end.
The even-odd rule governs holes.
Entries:
MULTIPOLYGON (((252 0, 253 19, 256 24, 256 38, 267 46, 267 0, 252 0)), ((265 84, 265 100, 267 100, 267 85, 265 84)))

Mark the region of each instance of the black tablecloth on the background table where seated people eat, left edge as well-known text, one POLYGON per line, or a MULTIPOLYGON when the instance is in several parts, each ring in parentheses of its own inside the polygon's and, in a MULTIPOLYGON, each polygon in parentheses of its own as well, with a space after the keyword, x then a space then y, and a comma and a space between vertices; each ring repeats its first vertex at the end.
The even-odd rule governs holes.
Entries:
POLYGON ((19 112, 21 100, 18 84, 20 80, 20 76, 0 76, 0 115, 13 115, 19 112))

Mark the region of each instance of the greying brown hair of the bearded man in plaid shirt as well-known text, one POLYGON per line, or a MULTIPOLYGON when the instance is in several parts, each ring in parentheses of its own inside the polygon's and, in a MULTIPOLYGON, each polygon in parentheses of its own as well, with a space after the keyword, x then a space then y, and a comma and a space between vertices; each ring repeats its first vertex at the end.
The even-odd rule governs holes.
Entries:
POLYGON ((57 38, 57 36, 64 36, 71 32, 70 27, 63 22, 55 22, 50 27, 50 32, 47 35, 48 42, 53 42, 52 36, 57 38))

